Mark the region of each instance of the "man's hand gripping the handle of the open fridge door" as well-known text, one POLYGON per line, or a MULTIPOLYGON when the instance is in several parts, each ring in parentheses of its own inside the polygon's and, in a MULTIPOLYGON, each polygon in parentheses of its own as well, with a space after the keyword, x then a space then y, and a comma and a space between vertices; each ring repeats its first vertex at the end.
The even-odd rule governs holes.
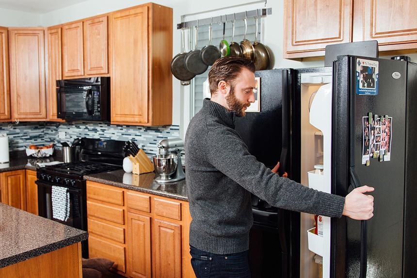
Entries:
POLYGON ((352 190, 345 198, 343 215, 355 220, 368 220, 373 216, 373 196, 366 195, 373 187, 361 186, 352 190))

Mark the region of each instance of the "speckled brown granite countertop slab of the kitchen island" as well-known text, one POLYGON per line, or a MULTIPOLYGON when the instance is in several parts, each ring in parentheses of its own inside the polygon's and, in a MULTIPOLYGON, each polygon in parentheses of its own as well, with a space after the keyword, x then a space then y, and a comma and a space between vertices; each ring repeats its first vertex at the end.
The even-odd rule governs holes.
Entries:
POLYGON ((0 268, 86 240, 86 231, 0 203, 0 268))

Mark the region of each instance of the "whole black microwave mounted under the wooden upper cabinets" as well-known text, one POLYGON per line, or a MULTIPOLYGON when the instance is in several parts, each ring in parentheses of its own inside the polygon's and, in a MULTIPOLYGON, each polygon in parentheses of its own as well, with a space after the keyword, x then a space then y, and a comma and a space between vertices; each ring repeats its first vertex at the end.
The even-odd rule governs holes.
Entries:
POLYGON ((56 85, 58 118, 110 120, 110 77, 57 80, 56 85))

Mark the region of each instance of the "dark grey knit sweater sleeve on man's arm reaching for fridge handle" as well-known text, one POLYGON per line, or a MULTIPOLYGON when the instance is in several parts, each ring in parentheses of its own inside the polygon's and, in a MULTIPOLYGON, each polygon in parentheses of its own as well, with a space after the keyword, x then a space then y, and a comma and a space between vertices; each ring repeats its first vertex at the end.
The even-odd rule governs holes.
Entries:
POLYGON ((208 162, 270 205, 304 213, 341 217, 345 198, 279 177, 248 152, 232 129, 214 129, 206 137, 208 162))

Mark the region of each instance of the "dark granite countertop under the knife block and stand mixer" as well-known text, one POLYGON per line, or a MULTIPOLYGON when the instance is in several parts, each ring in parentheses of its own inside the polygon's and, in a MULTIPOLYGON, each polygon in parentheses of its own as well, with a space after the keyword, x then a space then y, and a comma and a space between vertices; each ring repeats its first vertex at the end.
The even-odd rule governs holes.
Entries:
POLYGON ((85 180, 96 181, 181 201, 188 201, 185 180, 162 184, 156 182, 154 178, 155 173, 136 175, 126 173, 123 169, 84 176, 85 180))

